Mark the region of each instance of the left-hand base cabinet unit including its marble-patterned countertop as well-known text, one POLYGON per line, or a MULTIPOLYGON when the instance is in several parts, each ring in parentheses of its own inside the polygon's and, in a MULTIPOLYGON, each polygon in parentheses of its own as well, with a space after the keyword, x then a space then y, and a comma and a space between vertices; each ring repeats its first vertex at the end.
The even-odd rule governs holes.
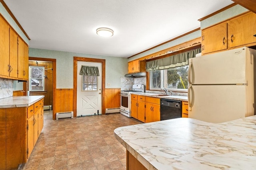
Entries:
POLYGON ((22 169, 44 126, 44 96, 0 99, 0 169, 22 169))

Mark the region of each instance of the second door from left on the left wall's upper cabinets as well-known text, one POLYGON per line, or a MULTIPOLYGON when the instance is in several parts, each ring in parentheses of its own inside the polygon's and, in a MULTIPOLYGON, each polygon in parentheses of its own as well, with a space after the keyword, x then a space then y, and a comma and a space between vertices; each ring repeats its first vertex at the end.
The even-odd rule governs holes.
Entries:
POLYGON ((9 76, 18 77, 18 34, 10 28, 10 71, 9 76))

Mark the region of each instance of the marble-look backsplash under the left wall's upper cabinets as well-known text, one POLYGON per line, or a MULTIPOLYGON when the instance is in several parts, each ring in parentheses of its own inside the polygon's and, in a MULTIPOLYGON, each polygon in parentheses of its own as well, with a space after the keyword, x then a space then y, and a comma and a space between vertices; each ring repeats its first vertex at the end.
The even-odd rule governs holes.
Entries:
POLYGON ((13 95, 13 84, 11 79, 0 78, 0 99, 13 95))

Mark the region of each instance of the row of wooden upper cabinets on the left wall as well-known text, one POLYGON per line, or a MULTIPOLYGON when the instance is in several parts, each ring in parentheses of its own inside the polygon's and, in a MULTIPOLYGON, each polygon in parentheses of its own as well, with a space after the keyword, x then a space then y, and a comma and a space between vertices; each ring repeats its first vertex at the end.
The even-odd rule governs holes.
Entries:
POLYGON ((28 80, 28 45, 0 16, 0 77, 28 80))

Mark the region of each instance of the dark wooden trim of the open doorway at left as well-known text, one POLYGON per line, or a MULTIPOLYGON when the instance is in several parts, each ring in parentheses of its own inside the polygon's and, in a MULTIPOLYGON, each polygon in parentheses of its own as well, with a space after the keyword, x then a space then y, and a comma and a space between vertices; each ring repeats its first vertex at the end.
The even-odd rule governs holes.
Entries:
POLYGON ((52 62, 52 119, 55 120, 56 112, 55 112, 55 96, 56 96, 56 59, 48 59, 48 58, 39 58, 39 57, 28 57, 28 60, 34 61, 50 61, 52 62))

